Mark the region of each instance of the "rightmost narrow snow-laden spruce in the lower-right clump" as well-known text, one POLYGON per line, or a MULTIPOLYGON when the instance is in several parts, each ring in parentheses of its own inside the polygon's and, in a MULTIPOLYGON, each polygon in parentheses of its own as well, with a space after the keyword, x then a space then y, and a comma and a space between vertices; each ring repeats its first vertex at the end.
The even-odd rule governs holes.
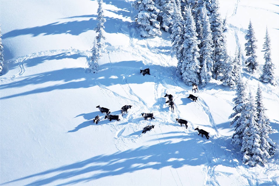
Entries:
POLYGON ((267 110, 262 102, 262 90, 260 84, 258 85, 257 95, 256 95, 256 112, 257 112, 257 124, 260 127, 260 138, 261 145, 260 149, 263 152, 263 158, 267 159, 275 153, 275 144, 269 138, 269 134, 272 132, 272 128, 269 124, 269 119, 265 114, 267 110))

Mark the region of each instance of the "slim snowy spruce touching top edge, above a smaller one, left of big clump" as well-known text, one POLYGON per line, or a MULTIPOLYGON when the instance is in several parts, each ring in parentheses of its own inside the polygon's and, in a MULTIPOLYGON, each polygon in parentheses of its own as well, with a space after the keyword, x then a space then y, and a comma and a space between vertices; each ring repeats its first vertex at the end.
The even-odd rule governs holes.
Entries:
POLYGON ((94 28, 94 30, 96 31, 96 33, 98 33, 98 36, 96 36, 97 39, 97 44, 100 46, 101 44, 101 38, 105 39, 104 36, 104 23, 106 22, 105 18, 104 18, 104 11, 103 11, 103 0, 98 0, 98 17, 97 17, 97 27, 94 28))

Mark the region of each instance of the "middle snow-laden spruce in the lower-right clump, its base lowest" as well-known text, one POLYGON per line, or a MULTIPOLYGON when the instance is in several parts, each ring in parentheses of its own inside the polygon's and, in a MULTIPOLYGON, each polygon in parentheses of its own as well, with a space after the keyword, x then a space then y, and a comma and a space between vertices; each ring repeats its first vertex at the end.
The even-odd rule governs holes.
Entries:
POLYGON ((245 109, 242 111, 242 122, 245 126, 244 135, 242 138, 243 163, 255 166, 256 164, 263 165, 267 160, 260 148, 261 137, 260 127, 256 122, 255 101, 250 92, 245 109))

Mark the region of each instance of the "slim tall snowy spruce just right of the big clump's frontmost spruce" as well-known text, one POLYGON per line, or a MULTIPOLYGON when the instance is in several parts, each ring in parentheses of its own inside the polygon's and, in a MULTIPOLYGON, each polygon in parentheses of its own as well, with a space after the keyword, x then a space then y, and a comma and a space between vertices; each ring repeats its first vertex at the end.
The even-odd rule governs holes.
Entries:
POLYGON ((201 9, 201 14, 203 15, 203 26, 202 26, 202 37, 200 44, 200 61, 201 61, 201 85, 204 87, 206 83, 211 80, 213 71, 213 41, 210 30, 209 18, 206 13, 206 8, 203 6, 201 9))

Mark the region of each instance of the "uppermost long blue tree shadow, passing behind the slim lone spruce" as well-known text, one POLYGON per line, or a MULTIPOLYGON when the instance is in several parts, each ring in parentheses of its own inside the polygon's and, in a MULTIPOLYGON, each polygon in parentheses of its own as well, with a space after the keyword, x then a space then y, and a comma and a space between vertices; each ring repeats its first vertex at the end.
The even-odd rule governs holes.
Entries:
MULTIPOLYGON (((103 1, 106 4, 111 4, 120 7, 122 10, 114 10, 113 12, 117 15, 122 15, 125 18, 128 18, 131 14, 132 7, 130 3, 126 1, 103 1), (127 5, 128 4, 128 5, 127 5), (131 7, 128 8, 127 7, 131 7)), ((112 10, 108 10, 112 11, 112 10)), ((32 28, 16 29, 10 32, 7 32, 2 35, 2 39, 9 37, 17 37, 20 35, 32 35, 36 37, 38 35, 55 35, 55 34, 71 34, 71 35, 80 35, 81 33, 94 30, 97 26, 97 15, 81 15, 81 16, 72 16, 62 19, 74 19, 74 18, 90 18, 89 20, 82 21, 68 21, 68 22, 53 22, 43 26, 35 26, 32 28)), ((121 29, 116 29, 117 25, 131 25, 131 22, 124 21, 122 19, 113 18, 113 17, 104 17, 107 21, 105 22, 104 30, 107 33, 118 33, 121 32, 121 29)))

